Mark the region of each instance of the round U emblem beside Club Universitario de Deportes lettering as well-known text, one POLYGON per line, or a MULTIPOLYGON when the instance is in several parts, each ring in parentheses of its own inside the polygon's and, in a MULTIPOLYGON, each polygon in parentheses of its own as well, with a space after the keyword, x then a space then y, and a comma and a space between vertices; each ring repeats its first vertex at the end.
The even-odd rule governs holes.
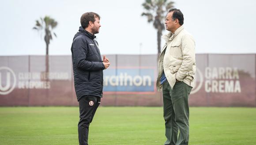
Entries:
POLYGON ((0 94, 9 94, 16 85, 15 73, 8 67, 0 67, 0 94))

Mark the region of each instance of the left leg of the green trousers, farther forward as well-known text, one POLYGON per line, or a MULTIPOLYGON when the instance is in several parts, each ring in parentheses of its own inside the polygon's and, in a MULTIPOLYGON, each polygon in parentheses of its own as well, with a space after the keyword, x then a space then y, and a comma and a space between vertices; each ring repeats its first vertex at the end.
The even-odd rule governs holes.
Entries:
POLYGON ((164 145, 175 145, 178 138, 178 127, 175 122, 173 103, 170 96, 171 92, 172 89, 166 80, 163 84, 163 109, 167 139, 164 145))

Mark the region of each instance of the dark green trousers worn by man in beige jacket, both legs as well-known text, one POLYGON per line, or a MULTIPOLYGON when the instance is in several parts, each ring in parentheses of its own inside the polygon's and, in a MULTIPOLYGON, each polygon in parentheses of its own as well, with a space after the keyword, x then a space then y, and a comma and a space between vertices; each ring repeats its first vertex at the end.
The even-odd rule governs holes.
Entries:
POLYGON ((176 82, 173 89, 167 80, 163 83, 163 109, 167 138, 164 145, 188 145, 188 95, 191 89, 192 87, 184 82, 176 82))

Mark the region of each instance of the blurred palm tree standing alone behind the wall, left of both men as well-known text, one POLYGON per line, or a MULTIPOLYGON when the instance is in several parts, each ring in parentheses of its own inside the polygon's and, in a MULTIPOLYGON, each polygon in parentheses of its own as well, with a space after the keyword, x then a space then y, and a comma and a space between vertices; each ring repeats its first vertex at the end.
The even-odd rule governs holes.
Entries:
MULTIPOLYGON (((50 18, 49 16, 45 16, 45 18, 40 18, 39 20, 36 20, 36 25, 33 27, 33 29, 45 32, 45 43, 46 43, 46 59, 45 59, 45 64, 46 64, 46 70, 45 72, 49 72, 49 44, 50 40, 53 39, 52 36, 52 31, 54 28, 57 26, 57 22, 53 19, 50 18)), ((54 36, 56 36, 56 33, 53 33, 54 36)), ((56 36, 57 37, 57 36, 56 36)))

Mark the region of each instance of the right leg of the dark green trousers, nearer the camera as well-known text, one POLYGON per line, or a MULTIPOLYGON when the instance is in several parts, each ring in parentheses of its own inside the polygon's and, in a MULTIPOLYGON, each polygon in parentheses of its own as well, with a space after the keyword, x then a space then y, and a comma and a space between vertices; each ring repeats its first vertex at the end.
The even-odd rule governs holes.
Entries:
POLYGON ((188 95, 192 87, 184 82, 176 82, 171 93, 175 121, 179 127, 180 133, 176 145, 188 145, 189 140, 189 106, 188 95))

